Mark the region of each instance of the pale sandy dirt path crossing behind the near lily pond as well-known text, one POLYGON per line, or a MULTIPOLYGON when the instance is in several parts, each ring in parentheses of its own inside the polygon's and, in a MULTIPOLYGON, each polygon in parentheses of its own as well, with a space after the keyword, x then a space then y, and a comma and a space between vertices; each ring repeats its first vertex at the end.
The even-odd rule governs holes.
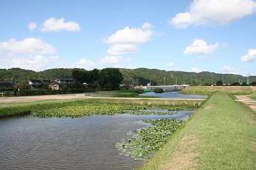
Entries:
POLYGON ((44 96, 21 96, 21 97, 0 97, 0 103, 27 103, 49 99, 74 99, 74 98, 95 98, 95 99, 127 99, 127 100, 186 100, 204 101, 204 99, 159 99, 159 98, 131 98, 131 97, 93 97, 95 94, 61 94, 44 96))

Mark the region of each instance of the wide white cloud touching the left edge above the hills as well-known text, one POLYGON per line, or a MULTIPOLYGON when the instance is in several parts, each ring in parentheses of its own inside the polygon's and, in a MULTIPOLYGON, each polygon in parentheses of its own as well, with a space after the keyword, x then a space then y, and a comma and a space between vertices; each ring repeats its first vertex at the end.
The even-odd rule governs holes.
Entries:
POLYGON ((29 53, 29 54, 45 54, 56 52, 54 46, 49 45, 36 38, 26 38, 22 41, 10 39, 9 41, 0 42, 0 52, 10 53, 29 53))

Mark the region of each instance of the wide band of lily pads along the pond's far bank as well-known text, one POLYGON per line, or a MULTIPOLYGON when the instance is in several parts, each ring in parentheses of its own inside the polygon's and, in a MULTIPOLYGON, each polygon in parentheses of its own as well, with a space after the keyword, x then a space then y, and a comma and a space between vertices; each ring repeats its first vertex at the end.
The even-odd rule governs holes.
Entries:
POLYGON ((192 110, 196 106, 165 106, 148 104, 122 104, 122 103, 83 103, 72 106, 49 108, 31 111, 32 117, 84 117, 92 115, 114 115, 130 113, 134 115, 172 115, 170 112, 150 112, 142 110, 192 110))

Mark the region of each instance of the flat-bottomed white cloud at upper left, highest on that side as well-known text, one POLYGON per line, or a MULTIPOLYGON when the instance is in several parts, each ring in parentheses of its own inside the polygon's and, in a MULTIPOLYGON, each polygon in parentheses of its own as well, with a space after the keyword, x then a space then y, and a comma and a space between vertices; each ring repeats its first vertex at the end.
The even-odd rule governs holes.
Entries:
POLYGON ((79 24, 74 21, 65 22, 65 18, 49 18, 42 24, 42 32, 80 31, 79 24))

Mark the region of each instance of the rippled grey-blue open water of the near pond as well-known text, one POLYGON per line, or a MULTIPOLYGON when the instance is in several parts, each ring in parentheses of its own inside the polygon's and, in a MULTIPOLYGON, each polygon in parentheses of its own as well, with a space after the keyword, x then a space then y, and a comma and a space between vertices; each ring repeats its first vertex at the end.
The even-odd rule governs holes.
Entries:
POLYGON ((115 144, 141 120, 186 120, 178 115, 113 115, 84 118, 0 119, 0 169, 134 169, 141 162, 118 155, 115 144))

